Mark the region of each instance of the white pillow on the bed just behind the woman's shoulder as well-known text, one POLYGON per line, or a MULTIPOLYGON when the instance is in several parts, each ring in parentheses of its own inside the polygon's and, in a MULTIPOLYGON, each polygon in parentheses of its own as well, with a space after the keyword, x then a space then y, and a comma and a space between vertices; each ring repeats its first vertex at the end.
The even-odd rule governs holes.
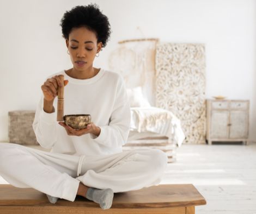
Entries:
POLYGON ((150 107, 148 100, 143 96, 142 87, 126 89, 131 107, 150 107))

